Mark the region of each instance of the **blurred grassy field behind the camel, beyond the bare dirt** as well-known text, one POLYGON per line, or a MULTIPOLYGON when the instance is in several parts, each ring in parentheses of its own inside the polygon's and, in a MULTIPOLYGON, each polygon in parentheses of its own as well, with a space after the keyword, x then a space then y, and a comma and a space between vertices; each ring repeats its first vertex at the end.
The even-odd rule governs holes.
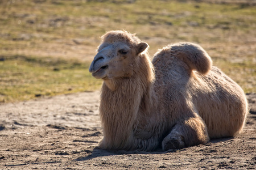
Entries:
POLYGON ((256 92, 256 1, 1 0, 0 104, 100 90, 89 65, 100 36, 125 29, 150 45, 200 44, 256 92))

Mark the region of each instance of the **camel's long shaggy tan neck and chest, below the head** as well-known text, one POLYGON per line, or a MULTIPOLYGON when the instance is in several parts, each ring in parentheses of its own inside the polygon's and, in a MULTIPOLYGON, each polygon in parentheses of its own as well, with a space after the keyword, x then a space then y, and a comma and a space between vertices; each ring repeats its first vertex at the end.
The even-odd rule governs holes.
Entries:
MULTIPOLYGON (((145 64, 145 63, 144 63, 145 64)), ((148 114, 152 107, 154 71, 151 62, 132 78, 105 80, 102 85, 100 116, 104 128, 102 145, 108 149, 131 148, 138 112, 148 114), (144 69, 144 70, 143 70, 144 69), (150 75, 148 75, 150 74, 150 75), (112 81, 112 82, 110 82, 112 81)))

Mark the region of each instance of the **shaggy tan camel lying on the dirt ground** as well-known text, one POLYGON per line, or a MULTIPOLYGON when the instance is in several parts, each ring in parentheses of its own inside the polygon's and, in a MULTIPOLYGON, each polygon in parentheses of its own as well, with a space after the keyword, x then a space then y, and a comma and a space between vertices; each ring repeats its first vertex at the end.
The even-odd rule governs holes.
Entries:
POLYGON ((197 44, 159 50, 127 31, 102 36, 89 71, 102 79, 100 118, 105 150, 164 151, 233 137, 245 124, 240 86, 197 44))

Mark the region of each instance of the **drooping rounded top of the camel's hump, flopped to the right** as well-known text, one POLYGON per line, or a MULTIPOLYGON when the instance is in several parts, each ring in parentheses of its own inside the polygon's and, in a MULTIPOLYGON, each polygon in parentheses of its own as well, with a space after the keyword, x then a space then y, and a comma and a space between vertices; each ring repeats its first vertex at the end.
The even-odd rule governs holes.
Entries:
POLYGON ((212 67, 212 59, 200 46, 191 42, 180 42, 171 45, 171 53, 183 60, 191 70, 207 74, 212 67))

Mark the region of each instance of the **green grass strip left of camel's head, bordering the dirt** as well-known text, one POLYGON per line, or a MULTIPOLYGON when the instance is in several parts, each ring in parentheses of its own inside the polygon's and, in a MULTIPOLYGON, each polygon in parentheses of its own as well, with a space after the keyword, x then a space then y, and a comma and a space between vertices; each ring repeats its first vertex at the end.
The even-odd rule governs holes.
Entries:
POLYGON ((98 90, 102 81, 88 67, 87 62, 60 58, 5 57, 0 61, 0 103, 98 90))

